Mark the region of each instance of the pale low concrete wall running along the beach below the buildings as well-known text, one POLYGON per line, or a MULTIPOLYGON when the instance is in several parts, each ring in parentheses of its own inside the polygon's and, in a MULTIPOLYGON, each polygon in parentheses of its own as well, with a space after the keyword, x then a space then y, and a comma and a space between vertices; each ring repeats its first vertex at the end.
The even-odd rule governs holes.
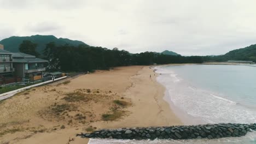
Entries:
POLYGON ((40 83, 37 83, 35 85, 31 85, 31 86, 27 86, 27 87, 22 87, 22 88, 19 88, 19 89, 16 89, 14 91, 10 91, 10 92, 7 92, 7 93, 2 93, 2 94, 0 94, 0 101, 4 100, 4 99, 8 99, 10 97, 13 97, 13 95, 15 95, 16 93, 25 91, 26 89, 42 86, 42 85, 45 85, 45 84, 48 84, 48 83, 51 83, 51 82, 55 82, 55 81, 59 81, 59 80, 62 80, 62 79, 66 79, 66 78, 67 78, 67 76, 63 76, 63 77, 55 79, 54 81, 53 80, 49 80, 49 81, 45 81, 45 82, 40 82, 40 83))

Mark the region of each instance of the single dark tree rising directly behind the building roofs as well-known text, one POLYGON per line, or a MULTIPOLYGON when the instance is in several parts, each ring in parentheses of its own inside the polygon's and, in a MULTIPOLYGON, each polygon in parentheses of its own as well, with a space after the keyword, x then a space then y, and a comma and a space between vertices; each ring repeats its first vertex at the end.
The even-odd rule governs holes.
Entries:
POLYGON ((30 40, 23 40, 19 50, 20 52, 38 57, 39 53, 36 51, 36 48, 37 44, 32 43, 30 40))

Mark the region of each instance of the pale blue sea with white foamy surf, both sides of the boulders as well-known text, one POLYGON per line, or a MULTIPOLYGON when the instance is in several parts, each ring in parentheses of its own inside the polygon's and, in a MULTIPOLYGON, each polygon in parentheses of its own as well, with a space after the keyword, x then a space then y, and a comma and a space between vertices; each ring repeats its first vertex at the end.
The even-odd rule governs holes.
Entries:
MULTIPOLYGON (((184 124, 256 123, 256 67, 172 65, 155 67, 164 99, 184 124)), ((256 143, 256 132, 242 137, 193 140, 110 140, 89 143, 256 143)))

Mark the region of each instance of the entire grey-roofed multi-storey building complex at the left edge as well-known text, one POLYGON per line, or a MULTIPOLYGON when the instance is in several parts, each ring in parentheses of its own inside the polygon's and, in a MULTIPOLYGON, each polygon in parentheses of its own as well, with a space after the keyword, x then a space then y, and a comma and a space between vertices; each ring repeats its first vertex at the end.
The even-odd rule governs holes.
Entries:
POLYGON ((43 78, 48 61, 21 52, 9 52, 0 45, 0 85, 43 78))

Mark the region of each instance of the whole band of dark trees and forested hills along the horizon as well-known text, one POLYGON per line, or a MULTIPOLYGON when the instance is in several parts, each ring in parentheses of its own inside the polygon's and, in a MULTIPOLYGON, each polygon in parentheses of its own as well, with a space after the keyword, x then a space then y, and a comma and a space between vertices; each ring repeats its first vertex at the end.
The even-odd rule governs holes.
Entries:
MULTIPOLYGON (((110 50, 104 47, 89 46, 82 41, 57 39, 53 35, 10 37, 0 41, 0 43, 4 44, 7 50, 9 50, 8 47, 11 45, 12 47, 20 46, 19 50, 21 52, 31 55, 37 56, 40 53, 41 58, 48 59, 49 61, 48 70, 66 72, 94 71, 96 69, 108 70, 113 67, 126 65, 224 62, 228 60, 256 62, 256 45, 230 51, 221 56, 181 56, 172 51, 132 54, 118 48, 110 50), (18 45, 13 46, 10 42, 18 45)), ((15 52, 16 50, 11 51, 15 52)))

